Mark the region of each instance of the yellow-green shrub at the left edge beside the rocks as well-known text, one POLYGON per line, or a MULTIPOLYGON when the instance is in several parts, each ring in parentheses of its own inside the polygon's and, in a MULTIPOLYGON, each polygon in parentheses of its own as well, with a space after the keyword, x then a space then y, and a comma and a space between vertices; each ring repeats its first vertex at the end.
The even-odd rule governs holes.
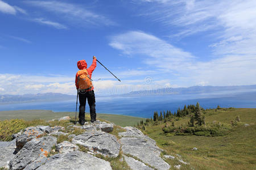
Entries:
POLYGON ((18 118, 0 121, 0 141, 11 141, 12 134, 18 133, 26 127, 26 122, 18 118))

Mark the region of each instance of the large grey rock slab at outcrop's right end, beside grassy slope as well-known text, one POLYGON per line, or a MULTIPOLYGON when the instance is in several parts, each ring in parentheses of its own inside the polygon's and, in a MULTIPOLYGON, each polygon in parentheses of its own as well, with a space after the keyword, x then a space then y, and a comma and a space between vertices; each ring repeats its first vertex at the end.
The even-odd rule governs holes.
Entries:
POLYGON ((170 165, 160 157, 161 149, 155 145, 155 141, 140 130, 126 127, 127 131, 119 133, 121 136, 122 151, 125 155, 131 155, 156 169, 170 169, 170 165))

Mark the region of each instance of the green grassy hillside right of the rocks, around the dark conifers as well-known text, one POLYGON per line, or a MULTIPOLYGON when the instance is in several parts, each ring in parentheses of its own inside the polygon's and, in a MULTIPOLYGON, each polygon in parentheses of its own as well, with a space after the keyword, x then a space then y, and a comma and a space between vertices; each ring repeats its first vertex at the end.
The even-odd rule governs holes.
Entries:
MULTIPOLYGON (((146 133, 167 151, 167 154, 180 154, 190 165, 181 169, 256 169, 256 109, 220 109, 208 110, 205 121, 230 123, 236 116, 250 126, 237 126, 227 135, 205 137, 196 135, 164 134, 164 123, 146 126, 146 133), (197 151, 192 151, 197 147, 197 151)), ((175 121, 175 126, 188 122, 189 118, 175 121)), ((171 165, 180 164, 177 160, 168 160, 171 165)))

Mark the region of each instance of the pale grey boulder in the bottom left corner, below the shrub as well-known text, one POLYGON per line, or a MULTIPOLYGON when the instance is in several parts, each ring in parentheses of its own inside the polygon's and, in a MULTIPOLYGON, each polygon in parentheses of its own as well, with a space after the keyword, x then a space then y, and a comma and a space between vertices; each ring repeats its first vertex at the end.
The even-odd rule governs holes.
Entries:
POLYGON ((8 168, 10 159, 14 158, 15 140, 11 142, 0 142, 0 168, 8 168))

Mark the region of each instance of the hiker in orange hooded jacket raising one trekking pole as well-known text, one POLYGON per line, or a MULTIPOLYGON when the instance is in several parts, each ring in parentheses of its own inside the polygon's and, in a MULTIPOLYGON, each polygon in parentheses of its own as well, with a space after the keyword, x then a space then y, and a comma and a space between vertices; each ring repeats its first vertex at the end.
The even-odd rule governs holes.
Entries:
POLYGON ((93 56, 93 63, 87 69, 87 63, 84 59, 77 62, 79 71, 76 74, 76 89, 79 91, 79 123, 84 125, 85 123, 85 104, 86 99, 90 107, 90 121, 96 121, 96 110, 95 110, 95 96, 94 87, 92 84, 92 73, 96 68, 97 59, 93 56))

